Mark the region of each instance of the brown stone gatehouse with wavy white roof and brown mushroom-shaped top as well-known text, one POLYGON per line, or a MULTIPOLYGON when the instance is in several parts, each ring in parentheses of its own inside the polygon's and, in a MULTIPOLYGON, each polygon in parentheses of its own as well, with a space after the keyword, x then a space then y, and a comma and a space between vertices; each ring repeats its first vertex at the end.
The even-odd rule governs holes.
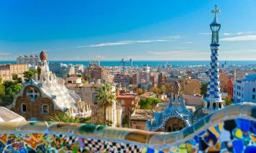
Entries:
POLYGON ((48 115, 61 112, 80 118, 91 116, 90 104, 82 101, 75 91, 67 89, 65 81, 49 70, 45 51, 40 53, 40 60, 37 77, 23 82, 10 110, 32 121, 45 121, 48 115))

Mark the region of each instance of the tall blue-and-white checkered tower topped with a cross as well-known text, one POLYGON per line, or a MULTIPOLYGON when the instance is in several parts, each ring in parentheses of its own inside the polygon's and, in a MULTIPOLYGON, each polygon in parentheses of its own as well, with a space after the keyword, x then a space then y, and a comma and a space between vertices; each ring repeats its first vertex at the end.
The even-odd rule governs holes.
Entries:
POLYGON ((218 61, 218 50, 219 50, 219 31, 221 29, 221 24, 217 20, 217 13, 220 13, 220 9, 213 9, 214 13, 213 22, 210 24, 210 30, 212 31, 212 42, 210 44, 211 49, 211 62, 210 62, 210 82, 207 87, 206 97, 204 99, 203 111, 206 114, 210 114, 213 111, 221 109, 224 107, 224 102, 221 98, 221 88, 220 88, 220 75, 219 75, 219 61, 218 61))

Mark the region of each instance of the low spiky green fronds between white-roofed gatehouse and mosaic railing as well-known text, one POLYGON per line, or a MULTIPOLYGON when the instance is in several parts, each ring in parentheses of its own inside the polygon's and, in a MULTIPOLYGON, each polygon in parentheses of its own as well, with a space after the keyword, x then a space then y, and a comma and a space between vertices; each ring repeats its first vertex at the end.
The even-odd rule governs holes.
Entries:
POLYGON ((48 115, 46 120, 49 122, 73 122, 73 123, 89 123, 91 118, 79 118, 73 117, 68 113, 57 113, 54 115, 48 115))

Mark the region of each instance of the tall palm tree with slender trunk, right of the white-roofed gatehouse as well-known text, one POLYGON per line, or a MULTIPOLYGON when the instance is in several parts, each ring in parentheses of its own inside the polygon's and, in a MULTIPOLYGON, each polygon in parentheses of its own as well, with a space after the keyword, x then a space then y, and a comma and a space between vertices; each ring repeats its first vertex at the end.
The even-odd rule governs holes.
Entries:
POLYGON ((98 95, 95 98, 103 106, 104 122, 108 125, 106 121, 106 109, 113 105, 113 101, 116 100, 116 97, 112 92, 112 87, 108 83, 105 83, 101 88, 98 88, 97 91, 98 95))

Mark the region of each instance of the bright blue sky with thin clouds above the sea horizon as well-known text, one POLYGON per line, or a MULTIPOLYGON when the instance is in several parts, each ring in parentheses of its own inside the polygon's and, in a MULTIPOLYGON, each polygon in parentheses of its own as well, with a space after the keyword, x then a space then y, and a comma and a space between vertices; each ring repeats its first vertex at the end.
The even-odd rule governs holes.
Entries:
POLYGON ((0 0, 0 60, 210 60, 221 9, 220 60, 256 60, 255 0, 0 0))

